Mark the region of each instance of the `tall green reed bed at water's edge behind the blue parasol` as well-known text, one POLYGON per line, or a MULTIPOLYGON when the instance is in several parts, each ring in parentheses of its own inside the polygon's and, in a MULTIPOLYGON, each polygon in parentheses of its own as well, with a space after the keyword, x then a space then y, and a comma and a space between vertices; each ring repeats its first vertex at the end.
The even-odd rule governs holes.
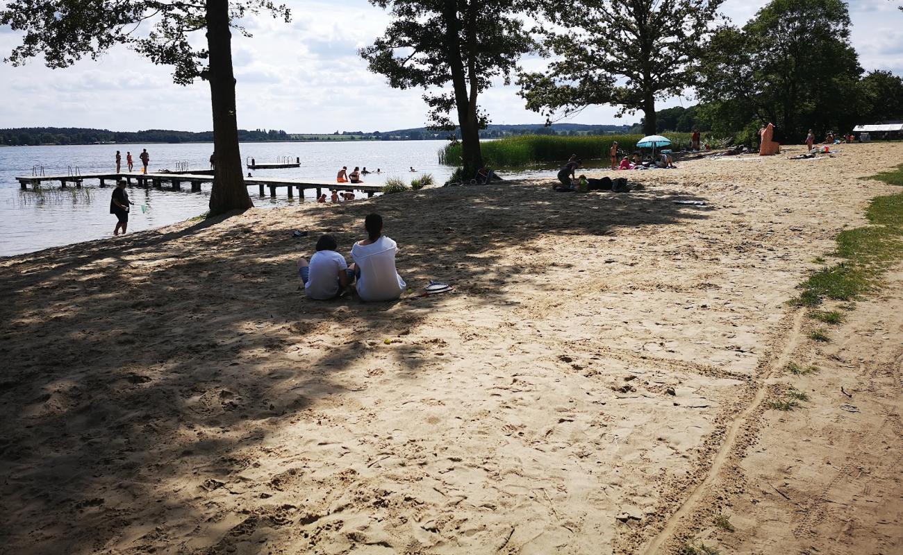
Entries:
MULTIPOLYGON (((690 143, 688 133, 667 133, 672 150, 679 150, 690 143)), ((573 154, 582 160, 608 161, 611 144, 618 142, 622 155, 637 150, 637 141, 642 135, 540 135, 528 134, 504 137, 496 141, 479 143, 483 162, 496 168, 525 167, 537 163, 565 162, 573 154)), ((461 143, 446 144, 439 151, 439 162, 448 166, 461 165, 461 143)))

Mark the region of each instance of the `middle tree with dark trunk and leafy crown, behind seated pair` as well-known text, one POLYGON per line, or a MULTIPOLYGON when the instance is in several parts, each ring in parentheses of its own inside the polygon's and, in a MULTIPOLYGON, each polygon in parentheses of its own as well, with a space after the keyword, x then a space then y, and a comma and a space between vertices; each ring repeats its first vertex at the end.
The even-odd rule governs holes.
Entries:
POLYGON ((506 83, 535 44, 519 14, 532 0, 370 0, 393 21, 360 55, 393 88, 424 88, 434 128, 461 127, 464 175, 482 166, 479 129, 487 116, 479 94, 506 83), (451 89, 448 87, 451 86, 451 89), (450 115, 454 114, 452 121, 450 115))

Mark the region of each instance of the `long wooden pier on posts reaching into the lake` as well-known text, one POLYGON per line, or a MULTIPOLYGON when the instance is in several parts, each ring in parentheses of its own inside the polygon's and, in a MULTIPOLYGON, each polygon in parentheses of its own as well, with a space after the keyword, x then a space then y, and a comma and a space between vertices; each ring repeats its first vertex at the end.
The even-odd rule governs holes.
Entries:
MULTIPOLYGON (((15 178, 19 181, 22 190, 28 190, 28 186, 40 187, 44 181, 60 181, 62 189, 74 184, 81 187, 84 180, 98 180, 100 187, 107 187, 107 181, 116 183, 118 180, 126 180, 129 185, 136 185, 149 189, 163 189, 163 183, 168 183, 172 190, 182 190, 182 183, 191 183, 192 192, 200 192, 201 183, 211 183, 212 175, 192 173, 84 173, 82 175, 31 175, 15 178), (134 181, 134 183, 133 183, 134 181)), ((316 190, 317 197, 322 190, 361 191, 366 192, 368 198, 373 193, 383 190, 381 185, 368 185, 366 183, 337 183, 328 180, 291 180, 265 177, 246 177, 245 184, 248 187, 256 185, 260 196, 265 196, 265 189, 269 189, 270 197, 275 198, 276 190, 284 187, 288 191, 288 198, 294 198, 294 190, 298 190, 298 196, 304 198, 304 190, 316 190)))

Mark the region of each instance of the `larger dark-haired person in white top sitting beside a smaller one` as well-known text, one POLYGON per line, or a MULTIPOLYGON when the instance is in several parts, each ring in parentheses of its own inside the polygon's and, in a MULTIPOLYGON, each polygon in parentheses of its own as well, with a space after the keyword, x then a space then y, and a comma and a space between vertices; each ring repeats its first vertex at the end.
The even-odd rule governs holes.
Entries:
POLYGON ((368 215, 364 227, 367 238, 351 247, 358 296, 361 301, 394 301, 407 286, 396 271, 398 245, 383 235, 383 217, 378 214, 368 215))

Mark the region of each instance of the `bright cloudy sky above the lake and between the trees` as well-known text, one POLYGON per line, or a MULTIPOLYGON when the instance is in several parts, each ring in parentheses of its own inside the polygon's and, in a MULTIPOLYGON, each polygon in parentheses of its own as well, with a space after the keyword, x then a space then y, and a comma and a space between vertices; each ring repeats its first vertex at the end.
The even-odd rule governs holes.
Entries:
MULTIPOLYGON (((256 17, 254 34, 233 33, 238 126, 283 129, 289 133, 389 131, 425 124, 426 106, 417 89, 389 88, 367 70, 358 49, 385 28, 386 13, 366 0, 283 0, 293 22, 256 17)), ((732 23, 749 20, 767 0, 727 0, 721 13, 732 23)), ((852 45, 866 70, 903 75, 903 13, 899 2, 849 0, 852 45)), ((199 37, 203 40, 202 35, 199 37)), ((0 27, 0 57, 20 41, 0 27)), ((525 60, 529 69, 539 60, 525 60)), ((539 64, 537 67, 536 64, 539 64)), ((154 66, 125 47, 99 60, 81 60, 67 69, 47 69, 42 59, 14 68, 0 63, 0 128, 25 126, 94 127, 115 131, 212 128, 209 86, 172 84, 171 70, 154 66)), ((692 106, 675 97, 659 107, 692 106)), ((490 88, 480 106, 495 124, 541 124, 545 118, 524 108, 517 87, 490 88)), ((641 114, 616 119, 614 106, 592 106, 566 122, 633 124, 641 114)))

